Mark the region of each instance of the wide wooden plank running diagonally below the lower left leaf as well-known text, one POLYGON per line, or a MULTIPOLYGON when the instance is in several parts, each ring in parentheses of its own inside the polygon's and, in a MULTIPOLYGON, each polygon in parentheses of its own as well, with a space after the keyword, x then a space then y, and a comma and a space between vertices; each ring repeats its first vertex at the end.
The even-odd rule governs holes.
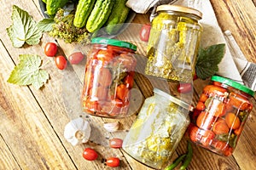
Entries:
POLYGON ((0 43, 1 135, 21 168, 74 169, 73 162, 27 87, 7 81, 15 64, 0 43), (27 102, 29 101, 29 102, 27 102))

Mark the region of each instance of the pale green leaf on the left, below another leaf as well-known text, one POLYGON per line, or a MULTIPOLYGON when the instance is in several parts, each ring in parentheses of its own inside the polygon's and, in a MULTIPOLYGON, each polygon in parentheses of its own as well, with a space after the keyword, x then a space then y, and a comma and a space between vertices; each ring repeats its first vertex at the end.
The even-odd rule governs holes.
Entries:
POLYGON ((15 66, 7 82, 17 85, 30 85, 41 88, 49 79, 47 71, 40 69, 42 60, 39 55, 21 54, 20 63, 15 66))

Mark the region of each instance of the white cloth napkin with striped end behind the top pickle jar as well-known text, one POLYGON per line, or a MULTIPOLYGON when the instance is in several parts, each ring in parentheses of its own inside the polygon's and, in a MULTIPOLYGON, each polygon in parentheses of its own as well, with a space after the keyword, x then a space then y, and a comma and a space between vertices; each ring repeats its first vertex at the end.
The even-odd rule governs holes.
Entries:
POLYGON ((137 13, 145 14, 150 8, 153 8, 152 13, 154 13, 157 5, 167 3, 200 10, 203 14, 200 20, 203 26, 201 47, 207 48, 218 43, 226 44, 224 58, 219 63, 216 74, 240 82, 256 91, 256 65, 247 61, 230 31, 224 33, 221 31, 209 0, 128 0, 126 5, 137 13))

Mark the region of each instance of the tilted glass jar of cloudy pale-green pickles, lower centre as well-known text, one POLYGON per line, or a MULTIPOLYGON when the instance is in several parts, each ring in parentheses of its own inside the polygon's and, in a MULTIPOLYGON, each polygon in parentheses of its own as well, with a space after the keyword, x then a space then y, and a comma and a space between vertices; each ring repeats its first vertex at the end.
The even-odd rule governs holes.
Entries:
POLYGON ((165 167, 189 125, 189 111, 188 104, 154 88, 125 136, 123 150, 148 167, 165 167))

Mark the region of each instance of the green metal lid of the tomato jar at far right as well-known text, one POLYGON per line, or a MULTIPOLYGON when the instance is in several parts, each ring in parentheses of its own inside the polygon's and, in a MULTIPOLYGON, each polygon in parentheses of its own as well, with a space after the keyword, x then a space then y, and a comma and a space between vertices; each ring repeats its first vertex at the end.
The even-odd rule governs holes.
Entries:
POLYGON ((228 78, 213 76, 212 77, 212 81, 222 82, 222 83, 224 83, 226 85, 229 85, 229 86, 231 86, 233 88, 237 88, 237 89, 239 89, 239 90, 241 90, 241 91, 243 91, 243 92, 245 92, 247 94, 250 94, 251 96, 254 95, 254 92, 253 92, 252 89, 247 88, 246 86, 244 86, 244 85, 242 85, 242 84, 240 84, 238 82, 234 82, 234 81, 232 81, 232 80, 230 80, 228 78))

